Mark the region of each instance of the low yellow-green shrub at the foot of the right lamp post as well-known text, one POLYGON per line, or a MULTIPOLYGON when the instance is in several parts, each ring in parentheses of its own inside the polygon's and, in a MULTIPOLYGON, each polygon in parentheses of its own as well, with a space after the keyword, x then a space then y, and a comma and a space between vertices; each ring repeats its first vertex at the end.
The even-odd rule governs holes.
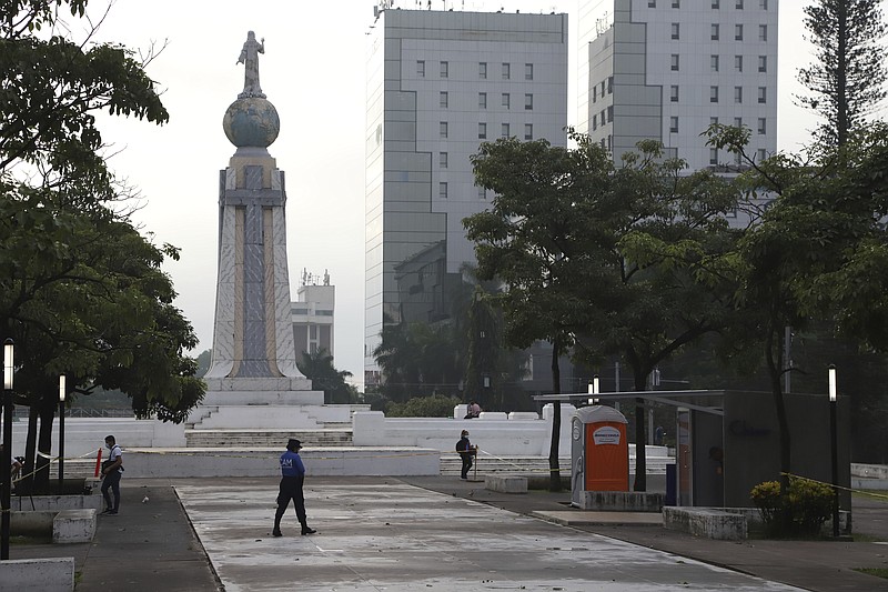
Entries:
POLYGON ((768 536, 816 536, 833 512, 833 488, 808 479, 790 476, 786 495, 779 482, 766 481, 750 498, 768 536))

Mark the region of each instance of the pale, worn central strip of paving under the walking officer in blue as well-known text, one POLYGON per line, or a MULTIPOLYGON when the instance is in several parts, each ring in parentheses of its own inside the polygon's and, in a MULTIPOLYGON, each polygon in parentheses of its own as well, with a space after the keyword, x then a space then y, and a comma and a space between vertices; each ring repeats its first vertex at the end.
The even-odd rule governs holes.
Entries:
POLYGON ((229 592, 797 590, 396 480, 311 480, 310 525, 271 536, 273 483, 178 484, 229 592))

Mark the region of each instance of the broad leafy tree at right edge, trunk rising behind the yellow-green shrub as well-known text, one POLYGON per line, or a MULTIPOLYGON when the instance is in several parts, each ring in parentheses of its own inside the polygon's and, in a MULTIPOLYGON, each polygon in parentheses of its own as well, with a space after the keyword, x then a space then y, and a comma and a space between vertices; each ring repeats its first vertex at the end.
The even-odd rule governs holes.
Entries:
MULTIPOLYGON (((791 439, 784 403, 784 327, 827 323, 868 349, 888 349, 888 215, 885 171, 888 127, 851 133, 848 142, 811 160, 778 154, 755 162, 745 151, 749 130, 714 126, 710 146, 749 165, 737 183, 768 192, 770 207, 736 249, 709 262, 713 277, 736 278, 733 301, 745 323, 725 337, 760 352, 780 430, 780 470, 791 473, 791 439)), ((821 369, 823 371, 823 369, 821 369)))

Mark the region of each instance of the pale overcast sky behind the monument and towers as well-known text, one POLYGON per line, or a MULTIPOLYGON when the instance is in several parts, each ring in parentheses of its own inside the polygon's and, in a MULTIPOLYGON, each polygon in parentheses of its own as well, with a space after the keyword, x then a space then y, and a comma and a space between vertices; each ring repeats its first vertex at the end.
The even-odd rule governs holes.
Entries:
MULTIPOLYGON (((91 12, 100 1, 93 0, 91 12)), ((803 42, 808 0, 783 0, 779 27, 778 147, 796 150, 814 126, 793 104, 795 74, 810 61, 803 42)), ((137 220, 157 243, 182 250, 165 264, 179 292, 176 304, 193 323, 199 353, 212 347, 215 307, 218 178, 234 153, 222 131, 225 109, 243 89, 236 64, 246 31, 265 39, 260 57, 262 90, 281 117, 269 148, 286 172, 287 250, 293 298, 303 269, 336 287, 335 365, 363 380, 364 328, 364 97, 365 40, 373 22, 371 0, 118 0, 102 24, 102 40, 134 50, 167 43, 148 68, 164 89, 170 123, 109 118, 111 167, 141 190, 137 220)), ((447 8, 462 2, 447 1, 447 8)), ((464 2, 466 9, 567 12, 571 60, 568 123, 576 121, 577 0, 464 2)), ((415 7, 414 0, 396 2, 415 7)), ((435 0, 433 8, 444 2, 435 0)))

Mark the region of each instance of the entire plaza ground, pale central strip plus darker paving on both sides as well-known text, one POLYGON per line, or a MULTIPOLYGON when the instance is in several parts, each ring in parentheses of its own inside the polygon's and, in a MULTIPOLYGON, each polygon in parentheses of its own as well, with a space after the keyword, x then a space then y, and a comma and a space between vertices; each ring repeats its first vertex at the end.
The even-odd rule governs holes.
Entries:
POLYGON ((855 541, 712 541, 657 514, 571 509, 569 492, 310 476, 317 534, 301 536, 291 510, 275 539, 278 479, 131 478, 122 490, 91 543, 13 540, 11 558, 73 556, 77 592, 888 590, 860 571, 888 569, 886 499, 855 495, 855 541))

